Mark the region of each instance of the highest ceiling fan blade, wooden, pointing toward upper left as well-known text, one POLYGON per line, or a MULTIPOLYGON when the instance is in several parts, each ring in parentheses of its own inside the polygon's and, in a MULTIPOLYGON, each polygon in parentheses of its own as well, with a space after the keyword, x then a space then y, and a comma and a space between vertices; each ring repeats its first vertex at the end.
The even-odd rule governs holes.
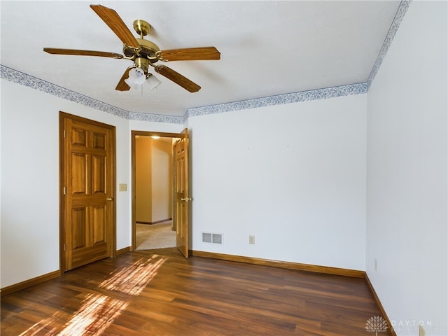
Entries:
POLYGON ((137 38, 132 35, 131 31, 126 27, 125 22, 121 20, 120 15, 115 10, 102 5, 90 5, 90 8, 98 14, 99 18, 102 18, 104 23, 112 29, 125 45, 140 48, 137 38))

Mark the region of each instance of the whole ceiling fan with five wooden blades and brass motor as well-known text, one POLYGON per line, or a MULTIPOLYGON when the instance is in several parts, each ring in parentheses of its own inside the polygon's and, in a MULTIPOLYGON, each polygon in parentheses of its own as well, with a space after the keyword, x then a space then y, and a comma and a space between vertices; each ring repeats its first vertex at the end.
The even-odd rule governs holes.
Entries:
POLYGON ((154 80, 152 73, 148 72, 148 69, 151 66, 155 72, 172 80, 189 92, 197 92, 201 87, 192 80, 182 76, 168 66, 155 63, 158 61, 168 62, 221 59, 221 52, 215 47, 160 50, 155 43, 144 39, 144 36, 148 35, 151 31, 151 25, 148 22, 144 20, 134 21, 134 29, 137 31, 137 34, 140 35, 140 38, 135 38, 115 10, 102 5, 90 5, 90 8, 97 13, 99 18, 101 18, 123 42, 124 55, 115 52, 57 48, 43 48, 43 51, 55 55, 99 56, 132 60, 134 64, 128 67, 125 73, 123 73, 116 90, 127 91, 130 90, 130 85, 143 84, 146 80, 150 83, 151 80, 154 80), (130 76, 132 78, 130 78, 130 76))

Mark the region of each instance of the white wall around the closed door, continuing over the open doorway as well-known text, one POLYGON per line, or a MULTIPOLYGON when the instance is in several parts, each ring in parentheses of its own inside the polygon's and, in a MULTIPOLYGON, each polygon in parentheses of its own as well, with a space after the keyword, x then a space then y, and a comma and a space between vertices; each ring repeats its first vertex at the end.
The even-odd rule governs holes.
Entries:
POLYGON ((116 126, 117 184, 128 186, 117 188, 117 249, 130 246, 130 130, 183 125, 126 120, 3 79, 0 111, 0 288, 59 269, 59 111, 116 126))

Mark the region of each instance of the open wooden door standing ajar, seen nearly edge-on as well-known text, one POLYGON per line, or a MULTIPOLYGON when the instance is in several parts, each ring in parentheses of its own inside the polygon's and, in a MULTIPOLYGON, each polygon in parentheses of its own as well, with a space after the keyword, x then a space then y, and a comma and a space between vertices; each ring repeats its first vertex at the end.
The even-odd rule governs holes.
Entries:
POLYGON ((188 129, 181 132, 181 139, 173 146, 174 162, 174 214, 176 246, 188 258, 188 129))

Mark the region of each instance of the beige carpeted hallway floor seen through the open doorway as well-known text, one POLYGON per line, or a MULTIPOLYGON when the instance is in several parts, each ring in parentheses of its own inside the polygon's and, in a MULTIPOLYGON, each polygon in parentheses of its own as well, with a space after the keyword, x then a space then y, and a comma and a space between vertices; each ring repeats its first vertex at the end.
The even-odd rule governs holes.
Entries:
POLYGON ((172 221, 158 224, 136 224, 136 250, 176 247, 176 231, 172 221))

